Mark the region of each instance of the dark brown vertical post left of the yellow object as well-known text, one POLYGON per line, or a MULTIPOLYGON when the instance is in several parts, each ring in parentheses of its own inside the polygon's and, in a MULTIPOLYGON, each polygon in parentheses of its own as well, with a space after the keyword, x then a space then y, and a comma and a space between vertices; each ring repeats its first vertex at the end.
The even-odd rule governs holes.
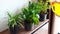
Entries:
POLYGON ((50 9, 49 10, 49 33, 48 34, 52 34, 53 23, 54 23, 54 13, 52 9, 50 9))

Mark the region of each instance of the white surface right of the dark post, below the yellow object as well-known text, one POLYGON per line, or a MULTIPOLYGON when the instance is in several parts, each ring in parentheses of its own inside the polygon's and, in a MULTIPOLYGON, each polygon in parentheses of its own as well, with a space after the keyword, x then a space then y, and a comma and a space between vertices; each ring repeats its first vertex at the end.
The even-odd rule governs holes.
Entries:
POLYGON ((60 33, 60 17, 55 15, 53 34, 60 33))

